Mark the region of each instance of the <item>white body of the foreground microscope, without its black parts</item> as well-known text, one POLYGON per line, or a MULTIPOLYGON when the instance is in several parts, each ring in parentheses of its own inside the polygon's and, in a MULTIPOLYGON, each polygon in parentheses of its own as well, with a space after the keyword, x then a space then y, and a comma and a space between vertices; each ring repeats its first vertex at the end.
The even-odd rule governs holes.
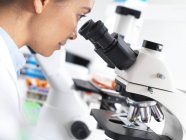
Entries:
POLYGON ((158 101, 163 106, 163 135, 172 140, 186 140, 186 110, 182 109, 186 94, 176 90, 171 74, 159 51, 142 48, 137 61, 127 70, 115 70, 116 80, 126 91, 158 101))

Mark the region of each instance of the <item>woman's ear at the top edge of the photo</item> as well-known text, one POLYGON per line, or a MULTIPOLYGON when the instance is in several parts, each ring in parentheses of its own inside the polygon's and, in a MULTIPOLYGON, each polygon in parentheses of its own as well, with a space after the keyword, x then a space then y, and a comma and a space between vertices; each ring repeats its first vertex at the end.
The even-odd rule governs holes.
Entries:
POLYGON ((34 8, 37 14, 42 13, 45 6, 49 3, 50 0, 34 0, 34 8))

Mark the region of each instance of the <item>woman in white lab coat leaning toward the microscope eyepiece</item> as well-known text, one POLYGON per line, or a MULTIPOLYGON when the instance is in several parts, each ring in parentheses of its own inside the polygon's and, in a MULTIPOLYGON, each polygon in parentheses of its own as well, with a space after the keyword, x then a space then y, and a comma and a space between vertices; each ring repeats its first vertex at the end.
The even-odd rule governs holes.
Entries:
POLYGON ((21 103, 17 74, 25 63, 18 48, 50 56, 76 38, 93 0, 0 0, 0 140, 18 139, 21 103))

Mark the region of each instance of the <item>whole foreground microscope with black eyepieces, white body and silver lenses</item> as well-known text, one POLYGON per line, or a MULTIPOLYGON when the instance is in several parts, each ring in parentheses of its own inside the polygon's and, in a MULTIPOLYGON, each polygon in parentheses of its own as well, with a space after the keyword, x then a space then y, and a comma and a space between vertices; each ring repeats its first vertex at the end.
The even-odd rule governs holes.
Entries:
POLYGON ((117 33, 108 33, 101 21, 89 20, 79 33, 93 43, 95 52, 114 68, 116 91, 126 97, 128 112, 116 114, 93 109, 91 115, 114 140, 186 140, 185 93, 177 90, 164 62, 163 45, 144 40, 132 50, 117 33), (146 125, 164 121, 161 134, 146 125))

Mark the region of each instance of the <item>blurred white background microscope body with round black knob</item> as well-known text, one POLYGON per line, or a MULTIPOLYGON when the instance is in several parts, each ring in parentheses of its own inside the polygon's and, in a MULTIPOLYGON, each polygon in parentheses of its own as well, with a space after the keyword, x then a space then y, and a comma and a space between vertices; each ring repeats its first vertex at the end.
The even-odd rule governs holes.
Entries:
POLYGON ((103 132, 95 130, 97 124, 89 115, 87 105, 72 89, 73 81, 65 68, 65 50, 57 51, 49 58, 36 54, 36 59, 44 70, 52 90, 41 110, 33 139, 93 140, 96 139, 96 135, 104 139, 103 132))

